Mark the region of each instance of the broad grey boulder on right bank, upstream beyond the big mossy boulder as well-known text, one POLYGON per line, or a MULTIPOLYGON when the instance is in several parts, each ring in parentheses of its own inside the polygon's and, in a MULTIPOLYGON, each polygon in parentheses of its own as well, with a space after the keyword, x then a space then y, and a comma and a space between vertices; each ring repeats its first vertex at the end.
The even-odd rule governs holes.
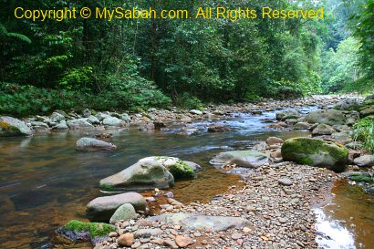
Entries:
POLYGON ((308 123, 342 125, 346 122, 346 117, 343 112, 337 109, 317 109, 309 112, 305 121, 308 123))

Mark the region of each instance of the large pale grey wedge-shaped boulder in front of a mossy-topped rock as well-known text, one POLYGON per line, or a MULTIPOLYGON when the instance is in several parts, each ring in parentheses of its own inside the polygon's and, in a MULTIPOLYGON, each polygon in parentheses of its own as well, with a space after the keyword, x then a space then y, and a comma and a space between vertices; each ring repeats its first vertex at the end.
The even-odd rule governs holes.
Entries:
MULTIPOLYGON (((159 157, 161 159, 161 157, 159 157)), ((174 185, 174 177, 156 157, 141 159, 124 171, 100 181, 104 191, 167 189, 174 185)), ((184 166, 184 164, 181 164, 184 166)), ((183 167, 184 168, 184 167, 183 167)), ((190 173, 192 173, 190 171, 190 173)))

